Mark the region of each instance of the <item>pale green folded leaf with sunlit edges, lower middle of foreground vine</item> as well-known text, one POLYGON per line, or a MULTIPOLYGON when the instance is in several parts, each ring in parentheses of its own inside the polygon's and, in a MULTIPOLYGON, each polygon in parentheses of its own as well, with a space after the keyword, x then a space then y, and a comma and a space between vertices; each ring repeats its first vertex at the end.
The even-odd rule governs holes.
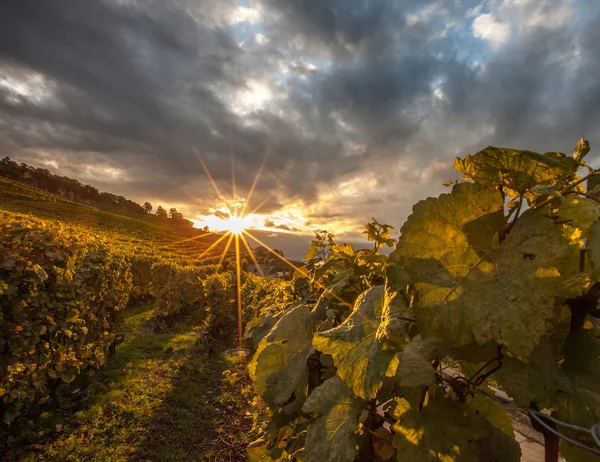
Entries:
POLYGON ((340 326, 320 332, 313 346, 333 357, 337 374, 364 399, 374 398, 394 352, 383 351, 376 339, 384 304, 383 286, 363 292, 354 311, 340 326))

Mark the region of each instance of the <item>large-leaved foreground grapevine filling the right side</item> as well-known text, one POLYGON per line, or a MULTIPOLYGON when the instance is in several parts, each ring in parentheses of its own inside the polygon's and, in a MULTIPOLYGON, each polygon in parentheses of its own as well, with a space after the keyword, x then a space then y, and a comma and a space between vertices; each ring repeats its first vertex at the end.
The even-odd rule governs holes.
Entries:
POLYGON ((462 181, 415 205, 389 257, 376 220, 369 251, 317 233, 295 275, 300 303, 262 308, 249 329, 251 460, 517 461, 492 381, 520 406, 597 423, 600 171, 588 152, 581 140, 573 156, 456 159, 462 181))

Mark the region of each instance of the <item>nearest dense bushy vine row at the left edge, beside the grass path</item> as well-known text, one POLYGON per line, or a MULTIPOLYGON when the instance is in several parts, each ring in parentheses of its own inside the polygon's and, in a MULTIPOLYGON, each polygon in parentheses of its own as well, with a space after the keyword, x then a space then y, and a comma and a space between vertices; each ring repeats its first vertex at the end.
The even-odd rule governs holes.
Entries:
POLYGON ((61 225, 0 223, 0 413, 10 424, 26 403, 104 362, 131 291, 123 254, 61 225))

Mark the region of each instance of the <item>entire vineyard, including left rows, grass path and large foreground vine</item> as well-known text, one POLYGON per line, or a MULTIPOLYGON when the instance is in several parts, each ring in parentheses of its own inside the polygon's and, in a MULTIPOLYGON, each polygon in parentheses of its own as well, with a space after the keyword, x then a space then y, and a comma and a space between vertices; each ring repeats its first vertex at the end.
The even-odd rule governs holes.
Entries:
POLYGON ((512 407, 547 461, 599 461, 589 150, 457 158, 398 239, 373 219, 372 248, 324 231, 292 281, 244 273, 247 373, 215 354, 237 328, 215 239, 0 179, 5 457, 518 461, 512 407))

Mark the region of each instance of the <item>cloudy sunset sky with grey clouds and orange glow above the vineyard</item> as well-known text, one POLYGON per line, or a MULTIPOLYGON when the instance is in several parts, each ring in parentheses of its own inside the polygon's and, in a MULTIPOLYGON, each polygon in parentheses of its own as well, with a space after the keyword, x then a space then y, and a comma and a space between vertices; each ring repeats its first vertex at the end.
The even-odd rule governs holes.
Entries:
POLYGON ((599 12, 3 0, 0 154, 211 228, 260 205, 248 224, 298 258, 314 230, 352 242, 372 216, 399 228, 458 177, 455 156, 488 145, 570 153, 584 136, 597 163, 599 12))

